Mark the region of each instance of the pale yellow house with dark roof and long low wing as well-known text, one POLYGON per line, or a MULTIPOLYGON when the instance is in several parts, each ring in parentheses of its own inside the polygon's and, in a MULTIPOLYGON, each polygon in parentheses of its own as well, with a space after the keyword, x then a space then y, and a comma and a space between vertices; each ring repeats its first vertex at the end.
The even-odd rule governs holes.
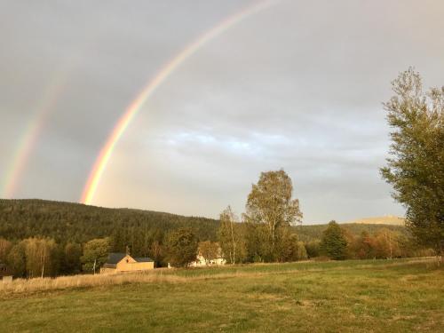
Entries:
POLYGON ((147 271, 155 268, 151 258, 132 258, 125 253, 110 253, 100 273, 113 274, 122 272, 147 271))

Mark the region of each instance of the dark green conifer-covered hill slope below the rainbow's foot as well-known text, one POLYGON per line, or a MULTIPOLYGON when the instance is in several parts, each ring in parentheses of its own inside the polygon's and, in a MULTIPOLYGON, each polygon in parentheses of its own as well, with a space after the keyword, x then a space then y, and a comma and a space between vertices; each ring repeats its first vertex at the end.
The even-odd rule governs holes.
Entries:
POLYGON ((115 236, 122 242, 190 226, 202 240, 216 240, 218 221, 169 213, 109 209, 71 202, 0 200, 0 236, 18 241, 34 236, 51 237, 58 243, 84 243, 115 236))

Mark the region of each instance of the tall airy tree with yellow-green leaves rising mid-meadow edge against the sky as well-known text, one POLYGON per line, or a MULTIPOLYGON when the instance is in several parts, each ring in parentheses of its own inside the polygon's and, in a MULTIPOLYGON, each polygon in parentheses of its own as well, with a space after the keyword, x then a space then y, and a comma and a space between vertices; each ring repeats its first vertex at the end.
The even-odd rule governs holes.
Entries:
POLYGON ((299 201, 292 198, 293 184, 284 170, 262 172, 258 184, 253 184, 246 204, 245 219, 266 226, 266 254, 276 259, 278 230, 302 221, 299 201))

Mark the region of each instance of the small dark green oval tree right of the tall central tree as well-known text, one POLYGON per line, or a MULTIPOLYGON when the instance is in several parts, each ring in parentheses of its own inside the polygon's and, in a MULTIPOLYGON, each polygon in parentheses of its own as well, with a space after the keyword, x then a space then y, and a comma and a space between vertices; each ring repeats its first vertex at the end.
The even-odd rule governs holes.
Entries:
POLYGON ((344 231, 335 221, 330 221, 322 234, 321 252, 335 260, 344 260, 346 257, 347 241, 344 231))

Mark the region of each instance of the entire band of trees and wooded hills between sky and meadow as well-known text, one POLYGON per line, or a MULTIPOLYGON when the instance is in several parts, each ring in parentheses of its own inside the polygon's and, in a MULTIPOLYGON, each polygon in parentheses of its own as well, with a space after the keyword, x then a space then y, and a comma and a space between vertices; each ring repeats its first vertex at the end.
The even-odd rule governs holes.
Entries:
POLYGON ((214 220, 0 200, 0 262, 16 276, 36 277, 94 272, 107 252, 128 248, 134 256, 153 258, 156 266, 187 266, 197 253, 208 262, 223 256, 232 264, 442 255, 444 87, 424 92, 421 76, 409 68, 392 82, 392 90, 394 96, 385 103, 392 145, 381 175, 407 210, 407 229, 372 226, 372 233, 356 234, 334 221, 325 230, 302 228, 291 179, 275 170, 263 172, 252 185, 240 218, 230 207, 214 220))

